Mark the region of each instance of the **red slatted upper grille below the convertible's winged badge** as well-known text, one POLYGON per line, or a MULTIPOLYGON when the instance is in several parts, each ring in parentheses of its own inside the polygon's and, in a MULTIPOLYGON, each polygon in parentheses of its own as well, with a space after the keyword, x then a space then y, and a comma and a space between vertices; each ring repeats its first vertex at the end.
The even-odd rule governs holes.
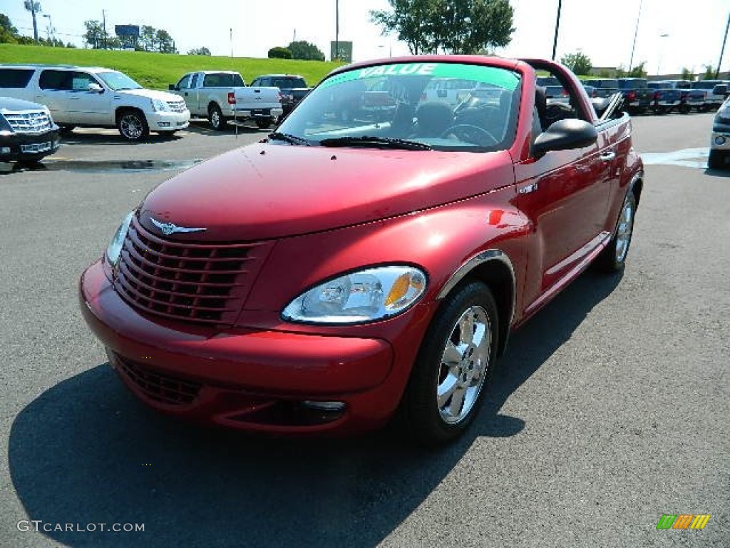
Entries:
POLYGON ((271 246, 169 240, 134 218, 115 287, 130 305, 157 316, 231 325, 271 246))

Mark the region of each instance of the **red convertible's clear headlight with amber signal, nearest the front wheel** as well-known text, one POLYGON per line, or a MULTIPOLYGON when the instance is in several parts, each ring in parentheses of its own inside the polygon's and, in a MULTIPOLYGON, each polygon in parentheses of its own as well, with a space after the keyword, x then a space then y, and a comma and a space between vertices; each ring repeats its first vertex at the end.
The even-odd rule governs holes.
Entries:
POLYGON ((415 267, 358 270, 320 283, 284 309, 288 321, 358 324, 396 316, 426 291, 426 274, 415 267))

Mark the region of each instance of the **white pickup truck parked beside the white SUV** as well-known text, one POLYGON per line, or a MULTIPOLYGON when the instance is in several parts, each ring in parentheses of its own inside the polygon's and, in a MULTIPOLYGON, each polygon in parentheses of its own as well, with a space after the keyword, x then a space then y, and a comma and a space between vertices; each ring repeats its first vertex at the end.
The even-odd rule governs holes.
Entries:
POLYGON ((193 116, 208 118, 213 129, 225 129, 231 119, 252 119, 261 129, 283 114, 279 88, 248 87, 238 72, 200 70, 188 72, 171 93, 185 100, 193 116))

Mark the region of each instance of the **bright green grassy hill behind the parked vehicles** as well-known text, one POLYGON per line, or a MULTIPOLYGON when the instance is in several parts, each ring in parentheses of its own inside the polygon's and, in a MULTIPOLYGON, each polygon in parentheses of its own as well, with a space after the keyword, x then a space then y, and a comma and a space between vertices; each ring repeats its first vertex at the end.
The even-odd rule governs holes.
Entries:
POLYGON ((303 76, 309 85, 315 85, 332 69, 342 65, 328 61, 183 56, 16 44, 0 44, 0 63, 105 66, 126 73, 147 88, 161 90, 176 83, 185 72, 194 70, 235 70, 247 83, 263 74, 295 74, 303 76))

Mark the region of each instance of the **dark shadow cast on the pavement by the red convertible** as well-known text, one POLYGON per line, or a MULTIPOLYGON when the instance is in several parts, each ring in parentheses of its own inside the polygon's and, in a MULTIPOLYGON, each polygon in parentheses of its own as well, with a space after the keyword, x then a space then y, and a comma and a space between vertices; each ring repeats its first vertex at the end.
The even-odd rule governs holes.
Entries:
POLYGON ((515 332, 485 407, 442 449, 409 446, 388 430, 288 440, 193 427, 142 406, 103 364, 48 389, 15 418, 15 491, 28 520, 42 520, 45 536, 72 547, 374 546, 477 438, 520 433, 523 420, 500 408, 620 280, 589 271, 515 332), (145 529, 109 532, 102 523, 145 529))

